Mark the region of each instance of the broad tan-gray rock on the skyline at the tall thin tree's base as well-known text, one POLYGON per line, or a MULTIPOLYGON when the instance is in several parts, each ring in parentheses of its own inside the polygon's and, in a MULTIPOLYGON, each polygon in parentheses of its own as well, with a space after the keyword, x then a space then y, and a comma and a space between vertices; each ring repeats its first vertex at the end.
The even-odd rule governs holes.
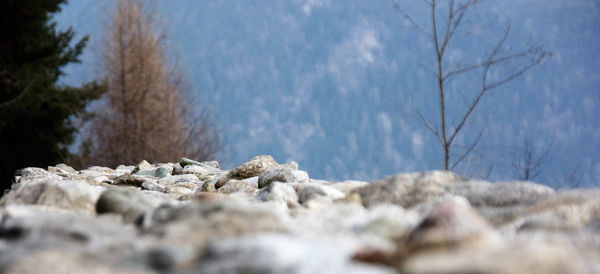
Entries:
POLYGON ((446 194, 446 186, 466 179, 446 171, 406 173, 372 182, 358 189, 365 206, 393 203, 412 207, 446 194))

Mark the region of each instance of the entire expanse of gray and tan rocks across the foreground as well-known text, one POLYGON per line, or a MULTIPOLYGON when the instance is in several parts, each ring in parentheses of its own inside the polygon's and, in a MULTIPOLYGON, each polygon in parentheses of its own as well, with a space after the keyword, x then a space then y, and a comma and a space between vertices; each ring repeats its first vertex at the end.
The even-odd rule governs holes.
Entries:
POLYGON ((314 180, 294 162, 25 168, 2 273, 600 273, 600 190, 441 171, 314 180))

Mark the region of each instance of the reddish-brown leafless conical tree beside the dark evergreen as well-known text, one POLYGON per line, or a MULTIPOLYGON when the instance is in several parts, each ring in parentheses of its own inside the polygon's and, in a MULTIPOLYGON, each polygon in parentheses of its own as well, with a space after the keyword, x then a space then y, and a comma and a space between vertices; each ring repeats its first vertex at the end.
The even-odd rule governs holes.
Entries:
POLYGON ((210 116, 197 111, 182 71, 169 62, 155 7, 118 0, 107 24, 101 45, 107 91, 87 143, 94 164, 207 160, 220 149, 210 116))

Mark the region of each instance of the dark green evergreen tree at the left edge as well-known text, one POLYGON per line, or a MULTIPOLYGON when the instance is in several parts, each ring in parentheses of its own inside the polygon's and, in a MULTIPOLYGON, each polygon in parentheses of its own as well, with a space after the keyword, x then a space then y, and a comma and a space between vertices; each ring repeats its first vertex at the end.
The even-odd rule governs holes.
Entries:
POLYGON ((0 1, 0 187, 15 170, 46 167, 69 156, 77 132, 73 118, 98 98, 101 86, 58 85, 62 68, 79 62, 87 37, 71 45, 73 31, 51 21, 65 0, 0 1))

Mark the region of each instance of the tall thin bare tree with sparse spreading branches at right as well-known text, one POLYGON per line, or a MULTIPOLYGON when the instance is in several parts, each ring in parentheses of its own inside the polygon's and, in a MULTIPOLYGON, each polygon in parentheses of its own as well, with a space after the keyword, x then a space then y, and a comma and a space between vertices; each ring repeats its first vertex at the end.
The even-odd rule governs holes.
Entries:
MULTIPOLYGON (((510 25, 507 25, 500 39, 490 45, 490 51, 484 56, 472 56, 471 63, 457 64, 447 58, 449 48, 458 38, 468 36, 475 25, 472 21, 467 20, 470 10, 479 2, 477 0, 466 1, 436 1, 423 0, 430 11, 429 27, 417 23, 415 17, 409 15, 400 4, 393 2, 395 9, 402 14, 408 21, 411 27, 414 27, 419 32, 429 38, 433 44, 435 55, 435 64, 433 69, 429 71, 434 75, 437 84, 437 93, 439 95, 439 124, 427 119, 421 111, 413 111, 412 115, 418 119, 423 125, 437 138, 444 152, 444 169, 453 170, 459 165, 477 146, 483 136, 483 130, 468 142, 468 145, 462 148, 460 153, 455 153, 454 148, 457 137, 461 135, 462 130, 472 119, 473 113, 481 103, 482 99, 490 94, 494 89, 497 89, 506 83, 523 75, 539 65, 546 57, 551 54, 543 51, 541 46, 531 46, 521 51, 511 51, 507 49, 505 43, 510 33, 510 25), (439 4, 438 2, 442 2, 439 4), (447 4, 443 5, 443 4, 447 4), (446 9, 444 9, 444 7, 446 9), (494 71, 494 77, 491 76, 492 70, 502 67, 503 70, 494 71), (466 73, 474 73, 477 76, 471 79, 477 79, 478 88, 469 92, 465 98, 465 104, 455 110, 456 113, 450 113, 448 106, 449 96, 456 96, 449 93, 447 86, 451 81, 456 81, 457 76, 466 73), (457 117, 452 121, 449 116, 457 117), (455 159, 451 159, 454 157, 455 159)), ((464 83, 456 82, 461 85, 464 83)))

